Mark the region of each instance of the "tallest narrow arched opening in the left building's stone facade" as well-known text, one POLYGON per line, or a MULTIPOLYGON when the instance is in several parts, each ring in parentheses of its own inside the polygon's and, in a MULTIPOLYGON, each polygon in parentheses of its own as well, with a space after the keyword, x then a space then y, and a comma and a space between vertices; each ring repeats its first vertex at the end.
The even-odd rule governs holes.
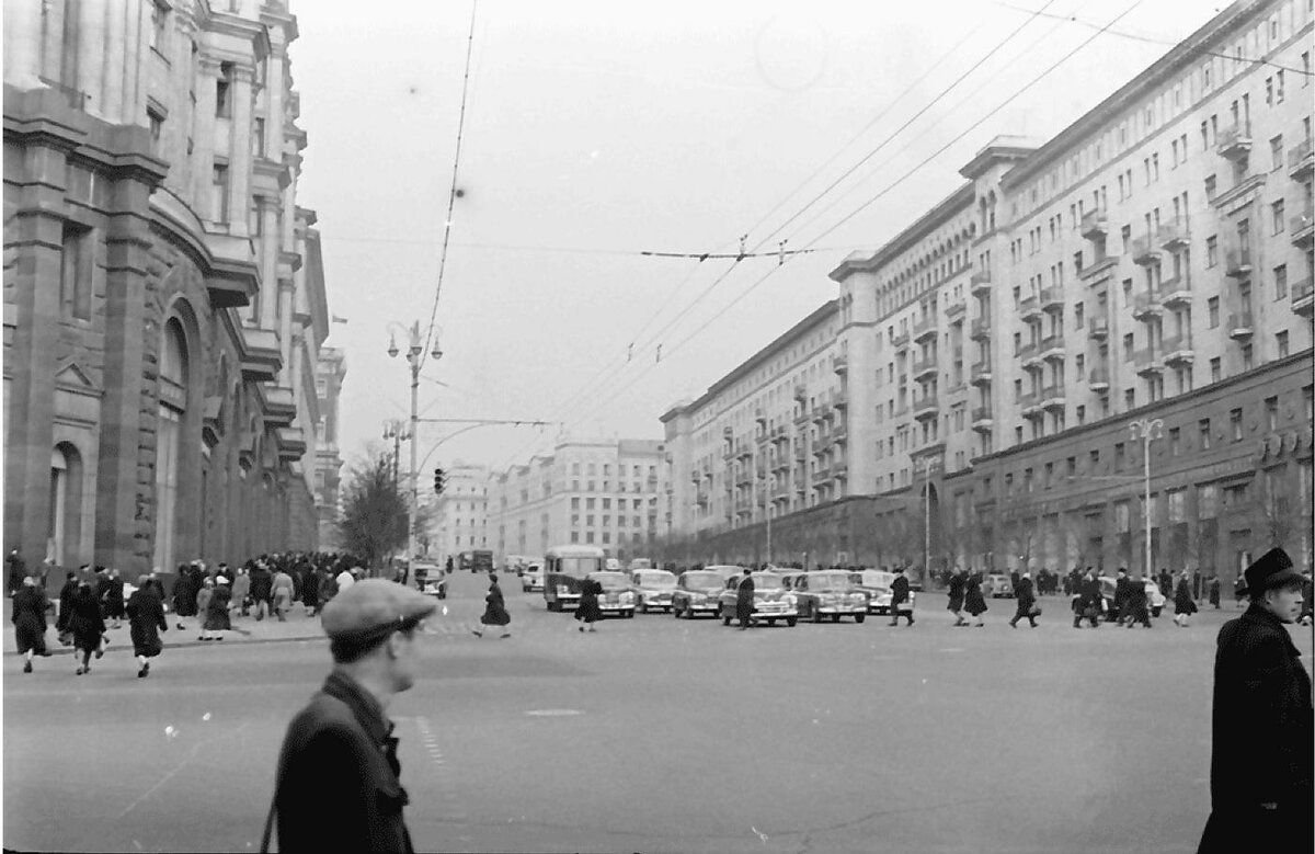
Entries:
POLYGON ((155 554, 153 565, 172 567, 178 536, 179 454, 183 447, 183 421, 188 389, 187 339, 183 325, 164 325, 160 347, 159 408, 155 432, 155 554))

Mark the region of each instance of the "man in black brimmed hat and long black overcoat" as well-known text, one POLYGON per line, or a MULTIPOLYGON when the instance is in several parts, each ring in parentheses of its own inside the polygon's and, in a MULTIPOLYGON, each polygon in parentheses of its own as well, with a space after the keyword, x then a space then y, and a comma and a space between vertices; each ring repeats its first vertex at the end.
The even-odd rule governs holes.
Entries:
POLYGON ((1285 624, 1302 611, 1302 576, 1282 549, 1247 567, 1251 604, 1219 629, 1210 820, 1201 853, 1312 849, 1311 680, 1285 624))

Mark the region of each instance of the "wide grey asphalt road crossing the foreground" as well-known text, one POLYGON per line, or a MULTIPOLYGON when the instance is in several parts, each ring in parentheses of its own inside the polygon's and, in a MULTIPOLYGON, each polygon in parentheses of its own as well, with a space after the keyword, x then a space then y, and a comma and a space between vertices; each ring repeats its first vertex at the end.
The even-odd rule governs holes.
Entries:
MULTIPOLYGON (((476 638, 452 578, 427 674, 389 709, 408 824, 439 851, 1193 851, 1210 805, 1214 640, 1190 629, 917 625, 738 632, 648 615, 580 634, 505 582, 476 638)), ((1231 604, 1230 604, 1231 605, 1231 604)), ((1310 666, 1311 630, 1293 629, 1310 666)), ((171 633, 174 634, 174 633, 171 633)), ((170 638, 166 638, 168 641, 170 638)), ((179 640, 179 638, 174 638, 179 640)), ((321 640, 4 661, 4 845, 256 850, 321 640)), ((325 803, 326 815, 334 804, 325 803)))

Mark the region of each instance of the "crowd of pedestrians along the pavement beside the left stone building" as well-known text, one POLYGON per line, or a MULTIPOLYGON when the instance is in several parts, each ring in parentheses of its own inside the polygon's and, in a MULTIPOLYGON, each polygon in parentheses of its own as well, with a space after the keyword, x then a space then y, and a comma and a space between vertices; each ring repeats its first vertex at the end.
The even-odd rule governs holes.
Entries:
MULTIPOLYGON (((7 557, 8 570, 25 572, 17 550, 7 557)), ((46 643, 47 618, 54 615, 59 643, 74 650, 75 675, 91 672, 93 659, 109 649, 109 629, 126 620, 138 678, 150 674, 150 659, 164 649, 162 632, 168 632, 167 612, 175 626, 187 629, 185 618, 196 618, 199 641, 222 641, 234 630, 233 620, 266 617, 285 621, 301 603, 308 616, 317 616, 341 591, 364 575, 351 554, 292 551, 262 554, 241 566, 206 566, 192 561, 178 566, 172 588, 166 592, 159 572, 143 572, 129 591, 113 567, 83 565, 68 571, 58 597, 46 595, 46 575, 54 565, 46 561, 41 572, 18 576, 12 586, 12 622, 24 672, 33 672, 33 659, 51 654, 46 643)), ((241 629, 238 629, 241 632, 241 629)))

